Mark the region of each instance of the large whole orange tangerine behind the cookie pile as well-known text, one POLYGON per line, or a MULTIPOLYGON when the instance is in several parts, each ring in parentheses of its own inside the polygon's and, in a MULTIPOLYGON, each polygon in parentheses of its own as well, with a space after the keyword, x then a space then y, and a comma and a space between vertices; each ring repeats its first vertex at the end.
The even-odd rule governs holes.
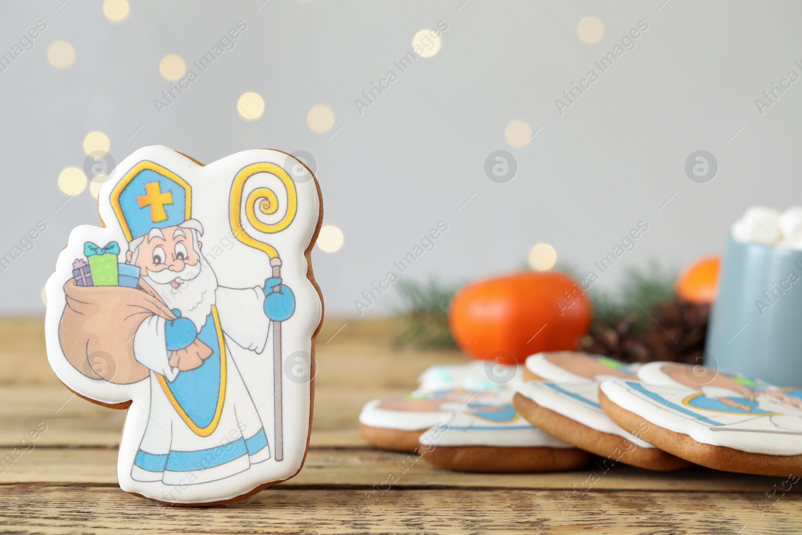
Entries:
POLYGON ((575 350, 591 314, 587 294, 567 275, 525 271, 462 288, 449 326, 473 359, 514 364, 539 351, 575 350))

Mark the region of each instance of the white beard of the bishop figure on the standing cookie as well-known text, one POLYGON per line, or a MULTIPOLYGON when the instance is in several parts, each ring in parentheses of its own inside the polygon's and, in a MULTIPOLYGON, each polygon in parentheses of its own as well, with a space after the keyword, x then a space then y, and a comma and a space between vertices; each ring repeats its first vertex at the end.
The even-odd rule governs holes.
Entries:
MULTIPOLYGON (((167 306, 171 309, 177 308, 181 311, 182 318, 189 318, 195 324, 196 330, 201 332, 201 328, 206 323, 206 318, 212 312, 212 306, 217 302, 217 275, 214 274, 212 267, 203 254, 199 254, 201 269, 194 278, 181 283, 181 286, 173 290, 169 283, 160 284, 145 275, 142 277, 156 293, 160 295, 167 306)), ((180 273, 172 272, 175 277, 186 274, 185 268, 180 273)))

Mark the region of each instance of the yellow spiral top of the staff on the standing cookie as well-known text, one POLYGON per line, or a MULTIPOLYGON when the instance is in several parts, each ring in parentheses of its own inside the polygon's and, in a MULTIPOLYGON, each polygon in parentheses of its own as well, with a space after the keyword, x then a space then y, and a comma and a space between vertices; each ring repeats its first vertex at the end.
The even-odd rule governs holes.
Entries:
POLYGON ((233 229, 234 236, 237 237, 237 240, 241 241, 245 245, 249 245, 254 249, 259 249, 267 253, 270 258, 277 258, 278 251, 272 245, 258 240, 245 230, 244 225, 242 225, 243 211, 245 212, 245 217, 247 218, 249 224, 253 226, 253 229, 260 233, 273 234, 281 232, 290 226, 290 223, 293 222, 295 214, 298 213, 298 193, 295 190, 295 183, 292 178, 290 178, 290 175, 288 175, 287 172, 277 164, 271 164, 268 162, 250 164, 245 168, 242 168, 241 171, 237 173, 237 176, 234 178, 234 182, 231 187, 231 208, 229 213, 231 217, 231 228, 233 229), (272 189, 265 187, 254 188, 253 191, 248 193, 248 196, 245 197, 245 205, 243 206, 242 204, 242 198, 244 197, 245 193, 245 184, 251 176, 260 172, 267 172, 271 175, 277 176, 287 190, 286 213, 284 217, 275 223, 265 223, 264 221, 261 221, 259 214, 257 214, 257 210, 263 215, 272 215, 278 211, 280 196, 273 192, 272 189))

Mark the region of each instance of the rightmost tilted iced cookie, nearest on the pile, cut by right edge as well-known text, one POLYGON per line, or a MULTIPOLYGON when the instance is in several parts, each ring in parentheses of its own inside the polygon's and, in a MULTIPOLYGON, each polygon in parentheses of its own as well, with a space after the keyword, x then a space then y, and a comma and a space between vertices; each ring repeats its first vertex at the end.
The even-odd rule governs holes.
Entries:
POLYGON ((802 475, 802 396, 765 388, 709 397, 691 387, 611 379, 599 401, 610 418, 696 464, 765 476, 802 475))

